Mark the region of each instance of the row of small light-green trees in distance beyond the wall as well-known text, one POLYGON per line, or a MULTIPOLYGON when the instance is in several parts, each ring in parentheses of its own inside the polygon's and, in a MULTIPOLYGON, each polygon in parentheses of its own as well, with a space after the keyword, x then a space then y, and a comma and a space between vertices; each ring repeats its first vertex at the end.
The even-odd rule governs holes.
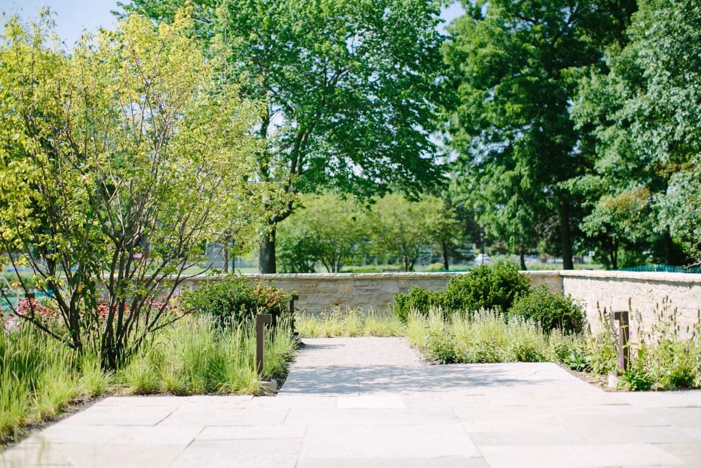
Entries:
POLYGON ((470 226, 459 208, 427 195, 409 201, 388 194, 371 203, 341 199, 327 192, 302 196, 299 207, 280 223, 280 269, 290 273, 341 272, 348 264, 397 265, 414 270, 418 260, 435 253, 442 269, 451 259, 472 258, 466 250, 470 226))

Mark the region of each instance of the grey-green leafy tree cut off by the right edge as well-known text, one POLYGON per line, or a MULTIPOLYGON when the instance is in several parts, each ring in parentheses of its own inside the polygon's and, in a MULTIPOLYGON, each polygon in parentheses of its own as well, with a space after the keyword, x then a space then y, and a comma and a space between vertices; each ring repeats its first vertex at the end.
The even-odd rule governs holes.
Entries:
POLYGON ((597 160, 580 185, 599 192, 590 227, 608 225, 628 240, 639 236, 633 226, 644 229, 661 238, 665 262, 675 265, 672 241, 692 254, 701 246, 690 209, 701 178, 701 5, 642 0, 627 39, 581 86, 575 116, 592 135, 597 160), (635 210, 599 209, 632 198, 635 210))

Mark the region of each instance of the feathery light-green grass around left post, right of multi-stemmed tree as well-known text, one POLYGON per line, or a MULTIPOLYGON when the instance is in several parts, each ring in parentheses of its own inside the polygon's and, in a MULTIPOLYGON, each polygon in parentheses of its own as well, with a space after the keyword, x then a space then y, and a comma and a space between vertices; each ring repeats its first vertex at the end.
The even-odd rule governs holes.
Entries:
POLYGON ((266 330, 264 375, 255 346, 251 321, 221 328, 210 316, 189 316, 145 344, 118 382, 132 394, 259 394, 259 381, 282 377, 294 354, 289 321, 266 330))

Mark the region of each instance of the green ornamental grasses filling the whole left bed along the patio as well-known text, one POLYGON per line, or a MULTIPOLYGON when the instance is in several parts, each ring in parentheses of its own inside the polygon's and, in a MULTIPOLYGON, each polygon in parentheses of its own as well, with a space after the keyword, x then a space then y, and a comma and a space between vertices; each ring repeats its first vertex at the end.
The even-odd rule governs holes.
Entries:
MULTIPOLYGON (((280 377, 292 358, 289 321, 266 330, 265 369, 280 377)), ((73 401, 107 391, 148 394, 258 394, 252 323, 220 328, 210 316, 188 316, 161 328, 116 372, 100 356, 76 354, 32 326, 0 330, 0 441, 42 422, 73 401)))

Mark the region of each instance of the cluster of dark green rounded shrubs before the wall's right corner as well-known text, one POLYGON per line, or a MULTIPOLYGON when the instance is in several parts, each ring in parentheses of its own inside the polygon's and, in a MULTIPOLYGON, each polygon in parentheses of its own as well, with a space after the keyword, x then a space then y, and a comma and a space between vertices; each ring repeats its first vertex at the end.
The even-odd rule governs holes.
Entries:
POLYGON ((545 286, 532 288, 515 265, 482 265, 451 279, 444 290, 414 287, 406 294, 395 294, 394 299, 393 312, 402 321, 411 312, 426 316, 430 309, 440 309, 445 316, 494 310, 504 319, 520 316, 540 323, 544 330, 566 332, 581 332, 585 321, 571 297, 551 293, 545 286))

